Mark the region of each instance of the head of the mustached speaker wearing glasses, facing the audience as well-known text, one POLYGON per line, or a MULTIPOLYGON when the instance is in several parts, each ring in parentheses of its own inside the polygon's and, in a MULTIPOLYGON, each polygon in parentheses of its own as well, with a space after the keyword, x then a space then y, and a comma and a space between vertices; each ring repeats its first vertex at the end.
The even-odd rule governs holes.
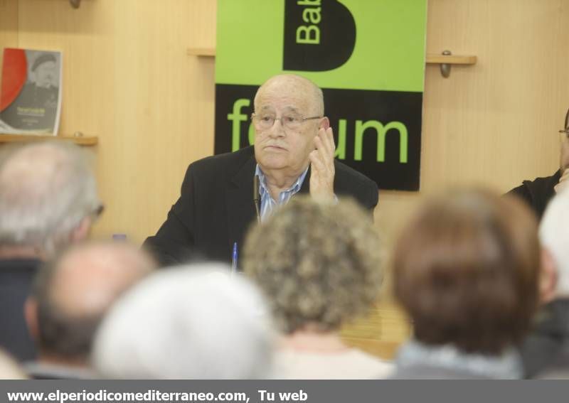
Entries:
POLYGON ((265 174, 296 178, 309 164, 319 128, 329 127, 322 91, 299 75, 276 75, 259 87, 254 103, 257 163, 265 174))

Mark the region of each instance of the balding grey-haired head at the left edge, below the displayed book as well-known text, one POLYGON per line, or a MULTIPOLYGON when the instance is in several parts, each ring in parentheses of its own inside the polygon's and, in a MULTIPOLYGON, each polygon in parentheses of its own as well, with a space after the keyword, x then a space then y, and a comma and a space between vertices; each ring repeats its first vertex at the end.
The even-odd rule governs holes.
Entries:
POLYGON ((100 213, 89 155, 48 141, 7 149, 0 158, 0 247, 53 254, 87 237, 100 213))

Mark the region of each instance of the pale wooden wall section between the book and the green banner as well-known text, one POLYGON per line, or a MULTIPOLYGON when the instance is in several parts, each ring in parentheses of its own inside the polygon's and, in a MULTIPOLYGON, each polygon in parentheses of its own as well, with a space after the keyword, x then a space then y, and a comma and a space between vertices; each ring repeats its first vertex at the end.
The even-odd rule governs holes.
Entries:
POLYGON ((95 235, 156 231, 188 163, 213 152, 210 0, 20 0, 19 45, 64 52, 60 132, 99 136, 97 174, 107 209, 95 235))

